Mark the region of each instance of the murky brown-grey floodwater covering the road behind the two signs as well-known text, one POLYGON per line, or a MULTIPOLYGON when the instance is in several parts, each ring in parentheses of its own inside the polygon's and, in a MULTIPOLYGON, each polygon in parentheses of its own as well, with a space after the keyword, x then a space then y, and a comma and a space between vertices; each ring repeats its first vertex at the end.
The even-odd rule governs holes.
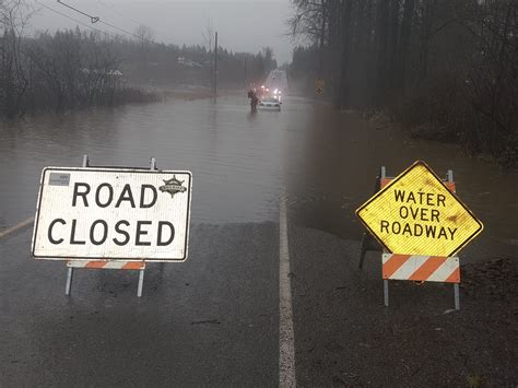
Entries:
MULTIPOLYGON (((354 210, 380 165, 398 175, 424 160, 454 169, 459 197, 483 221, 466 261, 518 256, 518 175, 454 145, 412 140, 357 115, 289 97, 282 111, 249 113, 246 95, 89 109, 0 121, 0 230, 34 214, 45 166, 149 166, 193 173, 192 222, 279 220, 360 239, 354 210)), ((28 246, 27 246, 28 250, 28 246)))

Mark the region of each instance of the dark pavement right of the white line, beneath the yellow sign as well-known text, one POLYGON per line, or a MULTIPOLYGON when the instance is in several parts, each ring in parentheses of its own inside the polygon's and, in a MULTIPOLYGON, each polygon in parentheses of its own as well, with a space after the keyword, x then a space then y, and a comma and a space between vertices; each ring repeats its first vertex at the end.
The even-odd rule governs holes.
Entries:
POLYGON ((290 230, 301 386, 516 386, 518 260, 462 268, 461 310, 449 284, 390 282, 379 254, 357 269, 360 243, 290 230))

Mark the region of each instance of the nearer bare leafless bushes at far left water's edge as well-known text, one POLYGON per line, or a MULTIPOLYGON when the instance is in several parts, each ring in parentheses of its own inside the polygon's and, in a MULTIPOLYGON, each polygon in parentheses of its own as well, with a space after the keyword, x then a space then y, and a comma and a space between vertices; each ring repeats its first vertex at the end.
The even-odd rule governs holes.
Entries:
POLYGON ((79 28, 30 37, 30 16, 23 1, 0 1, 0 117, 155 99, 125 81, 115 39, 79 28))

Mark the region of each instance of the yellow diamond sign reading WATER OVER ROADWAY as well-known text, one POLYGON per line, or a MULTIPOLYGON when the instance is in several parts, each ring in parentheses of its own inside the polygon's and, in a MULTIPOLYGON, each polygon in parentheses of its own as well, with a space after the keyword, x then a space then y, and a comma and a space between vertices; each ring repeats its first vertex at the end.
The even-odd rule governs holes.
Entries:
POLYGON ((422 161, 415 162, 356 210, 389 251, 452 256, 483 225, 422 161))

